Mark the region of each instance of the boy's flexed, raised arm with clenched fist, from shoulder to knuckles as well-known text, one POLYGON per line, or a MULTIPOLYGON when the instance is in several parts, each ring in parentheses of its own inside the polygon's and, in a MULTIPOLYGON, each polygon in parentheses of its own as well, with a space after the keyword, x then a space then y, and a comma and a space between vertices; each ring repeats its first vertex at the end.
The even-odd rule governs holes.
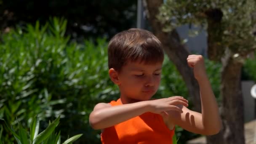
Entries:
POLYGON ((219 108, 211 89, 211 84, 205 73, 202 56, 192 55, 188 58, 188 64, 194 68, 194 75, 200 87, 202 114, 182 107, 183 113, 169 111, 169 120, 171 123, 181 126, 187 131, 200 133, 203 135, 213 135, 219 133, 221 129, 221 119, 219 108), (197 64, 199 65, 198 67, 197 64), (200 67, 200 64, 202 65, 200 67))

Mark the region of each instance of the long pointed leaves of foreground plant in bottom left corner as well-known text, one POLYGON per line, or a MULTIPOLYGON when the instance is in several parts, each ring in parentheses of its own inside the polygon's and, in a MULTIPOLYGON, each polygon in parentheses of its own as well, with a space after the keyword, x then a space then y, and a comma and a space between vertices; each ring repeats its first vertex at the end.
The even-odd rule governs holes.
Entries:
MULTIPOLYGON (((5 122, 5 120, 0 119, 5 122)), ((12 128, 9 128, 8 124, 5 122, 5 127, 11 131, 13 136, 16 139, 16 142, 18 144, 60 144, 61 143, 61 137, 60 137, 60 131, 59 133, 55 133, 54 130, 59 124, 60 117, 56 118, 52 123, 49 122, 48 127, 38 134, 39 132, 39 120, 37 117, 33 118, 32 123, 30 125, 30 133, 27 132, 26 129, 22 127, 22 125, 19 123, 19 133, 16 133, 13 131, 12 128)), ((1 125, 0 130, 0 144, 3 144, 3 140, 1 139, 3 126, 1 125)), ((73 141, 76 141, 80 138, 82 134, 72 136, 71 138, 64 141, 62 144, 72 144, 73 141)))

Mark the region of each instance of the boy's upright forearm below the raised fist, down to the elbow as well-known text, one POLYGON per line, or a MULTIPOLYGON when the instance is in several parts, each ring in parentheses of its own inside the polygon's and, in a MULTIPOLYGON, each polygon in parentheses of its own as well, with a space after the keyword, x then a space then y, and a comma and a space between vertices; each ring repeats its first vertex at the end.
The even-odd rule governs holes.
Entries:
POLYGON ((211 84, 208 77, 197 81, 200 87, 203 125, 207 130, 218 132, 221 129, 221 119, 211 84))

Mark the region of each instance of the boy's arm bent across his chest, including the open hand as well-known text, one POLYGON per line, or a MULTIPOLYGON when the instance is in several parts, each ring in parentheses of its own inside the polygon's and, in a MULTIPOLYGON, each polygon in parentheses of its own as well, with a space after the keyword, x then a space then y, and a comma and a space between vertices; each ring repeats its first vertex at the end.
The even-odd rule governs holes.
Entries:
POLYGON ((145 112, 161 113, 163 111, 173 110, 180 113, 181 109, 175 105, 181 104, 187 107, 187 102, 188 101, 181 96, 174 96, 113 107, 110 106, 110 104, 99 103, 94 107, 93 112, 91 112, 89 122, 94 129, 104 129, 139 116, 145 112))

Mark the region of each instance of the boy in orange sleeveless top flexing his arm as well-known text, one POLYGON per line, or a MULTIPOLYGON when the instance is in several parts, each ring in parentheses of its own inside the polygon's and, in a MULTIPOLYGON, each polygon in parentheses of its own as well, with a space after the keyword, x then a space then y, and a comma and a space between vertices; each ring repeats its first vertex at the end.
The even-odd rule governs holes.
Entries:
POLYGON ((99 103, 89 121, 101 129, 102 144, 172 144, 174 126, 203 135, 220 131, 215 96, 205 73, 203 57, 190 55, 200 86, 202 114, 187 108, 181 96, 151 100, 160 84, 164 52, 151 32, 129 29, 109 42, 109 77, 120 89, 120 99, 99 103))

